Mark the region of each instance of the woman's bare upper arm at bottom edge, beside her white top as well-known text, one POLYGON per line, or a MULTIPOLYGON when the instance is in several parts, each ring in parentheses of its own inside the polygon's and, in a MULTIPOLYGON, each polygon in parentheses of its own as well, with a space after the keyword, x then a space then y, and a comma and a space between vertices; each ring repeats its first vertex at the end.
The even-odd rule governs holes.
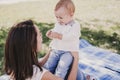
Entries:
POLYGON ((42 80, 63 80, 62 78, 59 78, 55 75, 53 75, 52 73, 50 73, 49 71, 47 71, 43 77, 42 80))

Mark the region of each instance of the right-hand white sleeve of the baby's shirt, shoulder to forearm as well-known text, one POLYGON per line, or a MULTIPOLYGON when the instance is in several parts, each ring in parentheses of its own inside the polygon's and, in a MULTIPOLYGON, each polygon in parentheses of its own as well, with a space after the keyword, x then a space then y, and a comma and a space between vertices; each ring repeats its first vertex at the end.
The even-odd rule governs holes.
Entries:
POLYGON ((69 33, 67 34, 63 34, 62 40, 74 40, 76 38, 79 38, 81 35, 80 33, 80 24, 79 23, 75 23, 71 30, 69 31, 69 33))

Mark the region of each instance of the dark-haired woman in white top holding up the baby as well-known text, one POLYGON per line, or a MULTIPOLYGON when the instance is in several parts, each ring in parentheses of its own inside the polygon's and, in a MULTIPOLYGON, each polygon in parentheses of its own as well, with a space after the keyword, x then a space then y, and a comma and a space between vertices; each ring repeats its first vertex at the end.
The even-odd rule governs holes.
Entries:
MULTIPOLYGON (((32 20, 13 26, 5 44, 5 72, 10 80, 62 80, 42 67, 47 54, 38 62, 37 52, 42 47, 42 35, 32 20)), ((73 64, 68 80, 75 80, 78 66, 78 54, 74 53, 73 64), (73 70, 74 69, 74 70, 73 70)))

